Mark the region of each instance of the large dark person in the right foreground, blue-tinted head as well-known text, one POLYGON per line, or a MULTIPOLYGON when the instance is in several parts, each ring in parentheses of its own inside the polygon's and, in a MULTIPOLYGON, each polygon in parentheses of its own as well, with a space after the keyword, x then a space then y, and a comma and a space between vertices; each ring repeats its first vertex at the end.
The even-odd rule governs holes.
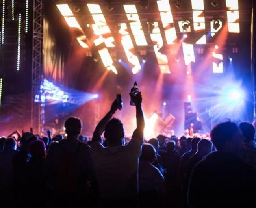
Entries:
POLYGON ((188 202, 193 208, 241 208, 256 203, 256 172, 244 163, 244 137, 232 122, 211 131, 217 151, 208 154, 192 171, 188 202))

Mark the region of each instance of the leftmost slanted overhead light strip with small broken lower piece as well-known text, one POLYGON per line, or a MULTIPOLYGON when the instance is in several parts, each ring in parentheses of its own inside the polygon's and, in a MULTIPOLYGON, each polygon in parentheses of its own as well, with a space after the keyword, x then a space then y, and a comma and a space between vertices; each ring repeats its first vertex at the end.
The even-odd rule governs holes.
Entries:
MULTIPOLYGON (((73 12, 71 11, 71 9, 69 8, 69 6, 67 4, 57 4, 56 5, 57 8, 59 9, 61 15, 64 17, 64 19, 66 20, 67 24, 69 27, 71 28, 78 28, 80 30, 80 32, 82 32, 82 37, 83 40, 87 39, 86 35, 84 34, 82 28, 80 27, 79 23, 77 22, 76 18, 74 17, 73 12)), ((89 46, 81 41, 80 39, 81 36, 77 37, 76 40, 78 41, 78 43, 83 47, 83 48, 89 48, 89 46), (87 45, 87 46, 86 46, 87 45)))

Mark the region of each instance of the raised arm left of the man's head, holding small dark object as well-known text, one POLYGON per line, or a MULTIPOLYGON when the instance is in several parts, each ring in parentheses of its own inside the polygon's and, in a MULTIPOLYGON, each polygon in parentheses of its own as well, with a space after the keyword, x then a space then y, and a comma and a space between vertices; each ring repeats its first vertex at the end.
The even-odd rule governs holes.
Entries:
POLYGON ((92 143, 95 141, 102 143, 101 134, 104 132, 106 124, 108 123, 108 121, 110 121, 113 114, 115 113, 115 111, 117 111, 118 108, 119 105, 117 103, 117 100, 114 100, 114 102, 111 105, 110 111, 108 111, 108 113, 104 116, 103 119, 100 120, 100 122, 96 126, 93 132, 93 138, 91 140, 92 143))

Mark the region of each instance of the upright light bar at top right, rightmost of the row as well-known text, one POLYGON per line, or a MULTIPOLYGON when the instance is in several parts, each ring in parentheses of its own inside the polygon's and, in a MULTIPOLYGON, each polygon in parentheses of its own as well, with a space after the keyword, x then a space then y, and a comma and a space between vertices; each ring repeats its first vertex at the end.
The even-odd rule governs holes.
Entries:
POLYGON ((228 32, 240 33, 238 0, 226 0, 228 32))

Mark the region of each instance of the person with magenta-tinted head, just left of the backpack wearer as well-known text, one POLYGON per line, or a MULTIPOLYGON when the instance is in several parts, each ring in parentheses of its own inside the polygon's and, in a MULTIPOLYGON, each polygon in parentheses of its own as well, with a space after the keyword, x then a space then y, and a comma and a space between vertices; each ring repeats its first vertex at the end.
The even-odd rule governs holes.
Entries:
POLYGON ((45 156, 46 146, 41 140, 30 145, 31 158, 26 164, 23 176, 22 206, 44 208, 46 202, 45 156), (30 193, 29 199, 27 194, 30 193))

